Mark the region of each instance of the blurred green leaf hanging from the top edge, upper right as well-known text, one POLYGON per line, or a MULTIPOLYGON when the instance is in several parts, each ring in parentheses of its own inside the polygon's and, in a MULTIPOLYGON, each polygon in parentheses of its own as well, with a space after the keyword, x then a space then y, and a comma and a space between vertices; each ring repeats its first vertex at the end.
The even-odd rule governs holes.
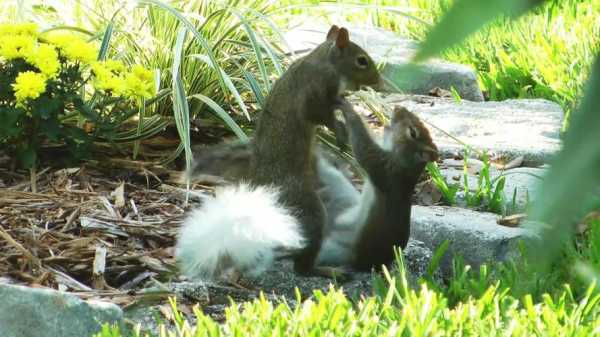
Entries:
POLYGON ((414 60, 420 62, 439 54, 499 15, 517 17, 541 2, 543 0, 457 0, 429 31, 414 60))

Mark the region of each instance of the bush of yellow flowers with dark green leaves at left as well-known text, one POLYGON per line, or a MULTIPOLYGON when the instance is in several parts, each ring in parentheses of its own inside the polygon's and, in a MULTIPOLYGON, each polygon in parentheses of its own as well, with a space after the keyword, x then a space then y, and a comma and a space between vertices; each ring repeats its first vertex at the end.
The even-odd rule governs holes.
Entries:
POLYGON ((154 94, 148 70, 95 61, 98 47, 73 34, 2 24, 0 46, 0 144, 25 167, 47 142, 82 157, 95 136, 109 136, 132 115, 131 101, 154 94), (73 117, 78 123, 65 122, 73 117))

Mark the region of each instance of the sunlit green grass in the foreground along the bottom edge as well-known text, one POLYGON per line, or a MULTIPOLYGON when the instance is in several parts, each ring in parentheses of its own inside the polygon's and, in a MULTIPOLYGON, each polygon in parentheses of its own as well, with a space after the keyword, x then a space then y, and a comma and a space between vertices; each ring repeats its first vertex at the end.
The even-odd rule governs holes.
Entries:
MULTIPOLYGON (((550 274, 525 259, 475 271, 455 258, 446 283, 426 275, 413 289, 398 259, 399 268, 375 275, 373 294, 360 299, 334 288, 297 306, 259 298, 232 303, 223 323, 195 307, 196 324, 172 300, 175 328, 159 336, 600 336, 600 289, 571 268, 577 259, 600 266, 600 220, 588 225, 550 274)), ((146 336, 140 328, 121 334, 106 326, 97 336, 146 336)))

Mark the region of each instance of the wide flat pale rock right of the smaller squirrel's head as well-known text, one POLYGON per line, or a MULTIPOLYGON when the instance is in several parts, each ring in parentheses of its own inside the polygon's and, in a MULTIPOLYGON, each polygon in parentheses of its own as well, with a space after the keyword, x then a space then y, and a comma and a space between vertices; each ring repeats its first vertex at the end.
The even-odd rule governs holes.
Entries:
MULTIPOLYGON (((430 96, 393 94, 385 99, 416 113, 464 143, 493 154, 524 157, 524 166, 547 163, 560 149, 561 107, 544 99, 501 102, 456 102, 430 96)), ((464 146, 427 125, 442 154, 462 152, 464 146)))

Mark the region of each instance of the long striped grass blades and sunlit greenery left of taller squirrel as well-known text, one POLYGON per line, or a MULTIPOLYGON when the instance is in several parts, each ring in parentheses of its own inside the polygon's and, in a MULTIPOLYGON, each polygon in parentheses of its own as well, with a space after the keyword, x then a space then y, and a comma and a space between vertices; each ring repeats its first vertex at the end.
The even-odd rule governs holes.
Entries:
POLYGON ((246 137, 239 125, 246 124, 252 111, 260 109, 272 81, 284 67, 284 56, 277 46, 282 32, 271 16, 275 9, 277 6, 268 0, 83 0, 75 6, 71 0, 46 1, 44 6, 28 0, 17 8, 7 4, 4 11, 0 6, 0 13, 15 19, 19 19, 15 12, 24 13, 28 19, 81 30, 90 36, 114 26, 107 55, 117 57, 127 67, 141 64, 160 70, 160 83, 171 95, 157 100, 144 114, 174 116, 171 121, 178 125, 182 145, 166 161, 176 158, 184 148, 188 148, 189 161, 189 146, 185 144, 190 143, 190 131, 180 127, 181 121, 214 115, 240 139, 246 137), (186 35, 177 46, 181 30, 186 35), (173 76, 174 72, 178 76, 173 76))

